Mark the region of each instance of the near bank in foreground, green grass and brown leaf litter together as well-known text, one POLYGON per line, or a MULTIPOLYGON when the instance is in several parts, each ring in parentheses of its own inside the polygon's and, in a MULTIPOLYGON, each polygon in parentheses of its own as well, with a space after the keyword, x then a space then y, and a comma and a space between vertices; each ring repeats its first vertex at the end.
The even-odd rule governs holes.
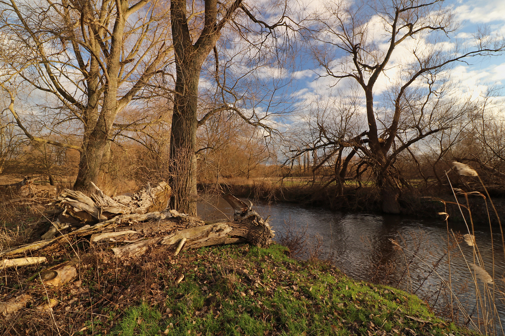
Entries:
POLYGON ((406 292, 356 282, 333 266, 296 261, 285 251, 275 244, 226 245, 171 257, 155 249, 124 266, 109 252, 87 253, 81 256, 80 279, 62 288, 30 282, 29 275, 39 270, 19 273, 12 285, 30 292, 33 302, 0 330, 122 336, 476 334, 434 317, 406 292), (50 298, 58 300, 51 313, 33 308, 50 298))

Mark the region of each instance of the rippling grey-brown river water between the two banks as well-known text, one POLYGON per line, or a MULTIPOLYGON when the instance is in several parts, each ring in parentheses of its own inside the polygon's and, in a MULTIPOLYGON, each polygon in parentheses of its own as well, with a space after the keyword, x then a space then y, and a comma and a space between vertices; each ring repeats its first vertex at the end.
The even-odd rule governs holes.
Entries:
MULTIPOLYGON (((208 201, 198 203, 200 217, 208 220, 223 219, 225 216, 232 218, 233 210, 226 201, 212 197, 206 199, 208 201)), ((263 218, 270 216, 269 222, 277 236, 284 234, 288 226, 294 230, 306 230, 311 236, 319 236, 322 257, 330 256, 342 272, 356 280, 370 280, 374 275, 375 280, 388 279, 392 286, 406 289, 421 298, 430 297, 428 302, 439 309, 450 300, 444 301, 444 297, 449 298, 444 296, 443 290, 448 286, 440 286, 442 281, 447 284, 449 281, 447 225, 443 216, 437 221, 332 212, 291 204, 259 204, 254 209, 263 218), (394 248, 391 240, 397 241, 402 248, 394 248), (377 267, 378 264, 383 266, 377 267)), ((450 230, 456 236, 468 233, 465 223, 449 223, 448 229, 450 237, 450 230)), ((491 293, 493 287, 495 290, 503 289, 505 259, 499 228, 493 227, 492 235, 489 224, 476 224, 474 230, 484 268, 494 278, 495 285, 488 288, 491 293)), ((478 264, 477 260, 474 261, 473 247, 460 239, 460 244, 453 245, 451 251, 451 288, 454 292, 461 292, 458 298, 464 309, 477 316, 480 304, 476 305, 475 285, 469 271, 470 264, 478 264)), ((479 288, 483 290, 480 280, 479 288)), ((497 315, 505 328, 505 304, 500 299, 503 295, 496 291, 494 296, 497 315)), ((457 305, 456 302, 453 304, 457 305)), ((489 302, 482 304, 489 305, 489 302)), ((496 318, 495 322, 496 332, 502 334, 496 318)))

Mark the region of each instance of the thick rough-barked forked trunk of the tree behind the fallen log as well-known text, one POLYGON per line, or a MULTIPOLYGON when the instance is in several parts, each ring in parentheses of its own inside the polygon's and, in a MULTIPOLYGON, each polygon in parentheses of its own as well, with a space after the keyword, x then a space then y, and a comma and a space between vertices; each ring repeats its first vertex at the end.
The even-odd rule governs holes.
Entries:
MULTIPOLYGON (((186 0, 170 2, 172 40, 175 52, 176 82, 170 133, 170 185, 174 192, 171 206, 196 216, 196 128, 197 99, 201 66, 219 39, 221 29, 240 7, 235 0, 229 8, 218 9, 217 0, 205 0, 205 18, 196 42, 189 33, 186 0), (218 13, 220 20, 218 20, 218 13)), ((221 5, 223 6, 223 5, 221 5)))

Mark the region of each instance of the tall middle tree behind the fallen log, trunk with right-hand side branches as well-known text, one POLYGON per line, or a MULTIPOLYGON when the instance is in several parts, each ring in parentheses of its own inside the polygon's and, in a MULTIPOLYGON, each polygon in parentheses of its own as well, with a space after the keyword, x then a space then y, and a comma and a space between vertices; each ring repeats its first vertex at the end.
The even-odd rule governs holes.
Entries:
MULTIPOLYGON (((193 2, 191 5, 186 0, 173 0, 170 3, 170 12, 176 64, 170 138, 170 184, 175 192, 171 205, 181 212, 194 215, 196 204, 190 195, 196 193, 197 127, 215 113, 226 110, 234 111, 246 122, 261 125, 258 120, 251 121, 254 118, 247 116, 241 108, 236 106, 235 102, 240 98, 233 93, 234 90, 225 89, 219 79, 216 79, 217 87, 222 89, 223 101, 198 118, 198 82, 202 66, 211 51, 214 51, 216 73, 218 73, 219 52, 216 43, 228 23, 233 23, 235 34, 244 37, 247 42, 247 32, 250 29, 243 25, 244 22, 237 20, 239 14, 243 14, 249 23, 252 22, 264 29, 266 36, 271 35, 276 27, 286 26, 286 24, 282 13, 274 24, 267 24, 257 19, 242 0, 226 2, 203 0, 193 2), (233 101, 227 101, 224 94, 231 95, 233 101)), ((262 33, 260 31, 259 35, 261 36, 262 33)), ((261 44, 260 39, 259 45, 254 48, 260 49, 261 44)))

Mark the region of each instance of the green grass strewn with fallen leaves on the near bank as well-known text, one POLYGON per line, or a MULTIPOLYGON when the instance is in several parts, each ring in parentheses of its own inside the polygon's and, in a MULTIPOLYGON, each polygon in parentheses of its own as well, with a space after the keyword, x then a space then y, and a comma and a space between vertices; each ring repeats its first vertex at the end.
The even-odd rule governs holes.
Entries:
MULTIPOLYGON (((199 259, 177 270, 185 274, 179 286, 165 287, 164 305, 144 302, 128 308, 112 332, 121 336, 475 334, 434 317, 416 296, 356 282, 334 267, 289 259, 284 252, 280 245, 200 249, 199 259), (211 302, 210 297, 215 299, 211 302)), ((184 252, 179 260, 194 253, 184 252)))

